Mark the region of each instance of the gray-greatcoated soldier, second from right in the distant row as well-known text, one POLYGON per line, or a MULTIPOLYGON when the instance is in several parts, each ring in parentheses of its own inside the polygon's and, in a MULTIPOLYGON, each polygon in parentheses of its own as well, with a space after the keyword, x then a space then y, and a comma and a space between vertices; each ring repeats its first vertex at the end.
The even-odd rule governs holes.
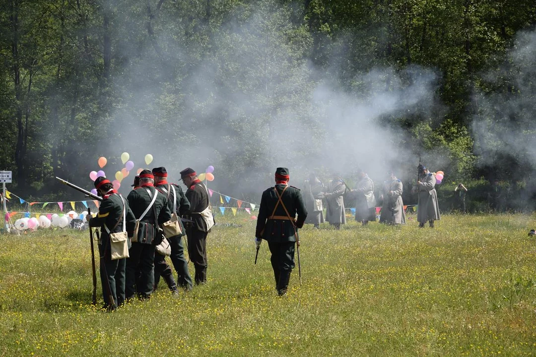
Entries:
POLYGON ((388 172, 388 179, 383 184, 382 214, 379 216, 380 223, 406 224, 404 202, 402 201, 403 184, 394 176, 394 172, 388 172))

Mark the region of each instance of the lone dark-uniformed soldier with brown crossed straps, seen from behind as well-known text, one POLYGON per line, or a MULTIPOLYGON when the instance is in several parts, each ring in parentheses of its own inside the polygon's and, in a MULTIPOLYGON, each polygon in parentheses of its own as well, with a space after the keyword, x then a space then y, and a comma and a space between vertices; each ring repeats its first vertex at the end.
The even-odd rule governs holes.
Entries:
POLYGON ((288 180, 288 169, 277 168, 276 186, 264 191, 260 200, 255 231, 257 246, 262 239, 268 241, 276 290, 280 296, 287 292, 295 266, 294 244, 297 241, 297 229, 303 226, 307 218, 307 209, 300 190, 288 186, 288 180))

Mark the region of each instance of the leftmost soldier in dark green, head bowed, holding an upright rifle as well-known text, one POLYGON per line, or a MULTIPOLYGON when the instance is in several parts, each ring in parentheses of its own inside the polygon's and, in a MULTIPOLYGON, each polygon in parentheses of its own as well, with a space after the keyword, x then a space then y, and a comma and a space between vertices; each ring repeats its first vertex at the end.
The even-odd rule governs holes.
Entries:
POLYGON ((87 216, 87 223, 90 227, 101 227, 99 242, 100 277, 102 284, 102 295, 107 310, 115 310, 125 301, 125 265, 126 258, 111 260, 110 234, 123 231, 123 209, 126 213, 126 231, 132 236, 136 219, 130 210, 128 201, 115 191, 114 186, 105 177, 98 177, 95 180, 95 188, 102 202, 99 213, 96 217, 87 216), (110 296, 113 301, 110 301, 110 296))

